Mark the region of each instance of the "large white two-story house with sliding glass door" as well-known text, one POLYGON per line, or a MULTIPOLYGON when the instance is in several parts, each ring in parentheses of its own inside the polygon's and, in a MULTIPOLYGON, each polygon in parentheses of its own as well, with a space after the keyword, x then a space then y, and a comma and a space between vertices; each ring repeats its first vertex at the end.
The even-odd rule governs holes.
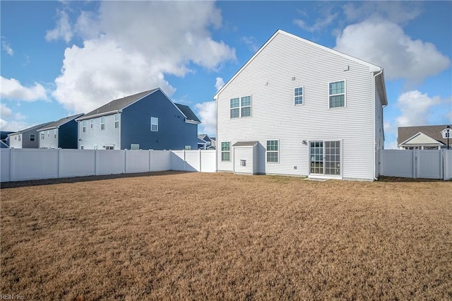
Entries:
POLYGON ((379 176, 380 66, 278 30, 214 100, 219 171, 379 176))

